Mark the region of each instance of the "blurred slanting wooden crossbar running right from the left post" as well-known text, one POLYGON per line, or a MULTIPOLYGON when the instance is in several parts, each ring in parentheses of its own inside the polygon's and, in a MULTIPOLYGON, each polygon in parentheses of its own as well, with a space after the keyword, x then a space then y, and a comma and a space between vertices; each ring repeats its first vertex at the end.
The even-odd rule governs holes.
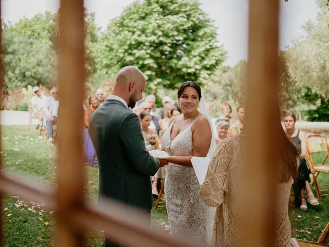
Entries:
POLYGON ((138 210, 115 201, 108 201, 106 205, 97 208, 87 205, 67 213, 64 217, 79 233, 87 230, 104 231, 107 238, 123 246, 198 246, 187 239, 173 237, 168 232, 151 228, 150 222, 138 210))

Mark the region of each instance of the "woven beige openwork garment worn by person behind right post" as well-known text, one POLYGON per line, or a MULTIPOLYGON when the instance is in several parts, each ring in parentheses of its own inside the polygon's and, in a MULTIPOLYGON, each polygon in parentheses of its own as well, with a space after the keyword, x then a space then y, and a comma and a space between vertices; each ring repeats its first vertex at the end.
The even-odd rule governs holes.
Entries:
MULTIPOLYGON (((241 240, 241 171, 243 150, 240 145, 242 136, 233 136, 220 142, 210 162, 206 180, 200 196, 210 206, 217 207, 212 236, 213 246, 243 246, 241 240)), ((275 165, 275 164, 270 164, 275 165)), ((291 178, 287 183, 278 184, 276 246, 288 247, 290 240, 290 221, 288 201, 291 178)))

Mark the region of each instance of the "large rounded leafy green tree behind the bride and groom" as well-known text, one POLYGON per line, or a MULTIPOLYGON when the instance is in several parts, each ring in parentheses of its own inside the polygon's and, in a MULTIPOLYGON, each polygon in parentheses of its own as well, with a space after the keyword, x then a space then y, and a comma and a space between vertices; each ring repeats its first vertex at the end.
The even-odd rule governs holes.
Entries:
POLYGON ((112 20, 100 42, 100 70, 114 77, 126 65, 139 67, 149 89, 202 83, 225 59, 216 29, 196 0, 134 2, 112 20))

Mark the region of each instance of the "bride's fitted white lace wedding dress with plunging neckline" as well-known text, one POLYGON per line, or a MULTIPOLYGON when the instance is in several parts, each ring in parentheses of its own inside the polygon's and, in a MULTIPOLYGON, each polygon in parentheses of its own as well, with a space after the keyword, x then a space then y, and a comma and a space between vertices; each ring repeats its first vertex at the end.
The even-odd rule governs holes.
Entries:
MULTIPOLYGON (((172 156, 192 155, 191 126, 180 132, 173 140, 170 133, 173 123, 162 137, 162 146, 172 156)), ((168 164, 165 195, 170 233, 185 236, 200 246, 211 241, 215 208, 207 206, 200 198, 200 185, 192 167, 168 164)))

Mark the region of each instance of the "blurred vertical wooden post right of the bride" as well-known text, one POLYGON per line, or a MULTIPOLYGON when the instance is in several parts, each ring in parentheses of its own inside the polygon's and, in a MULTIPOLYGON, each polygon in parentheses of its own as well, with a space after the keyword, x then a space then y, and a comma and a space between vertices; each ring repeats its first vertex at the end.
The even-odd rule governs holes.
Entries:
POLYGON ((279 1, 250 0, 243 229, 246 247, 275 246, 278 40, 279 1))

